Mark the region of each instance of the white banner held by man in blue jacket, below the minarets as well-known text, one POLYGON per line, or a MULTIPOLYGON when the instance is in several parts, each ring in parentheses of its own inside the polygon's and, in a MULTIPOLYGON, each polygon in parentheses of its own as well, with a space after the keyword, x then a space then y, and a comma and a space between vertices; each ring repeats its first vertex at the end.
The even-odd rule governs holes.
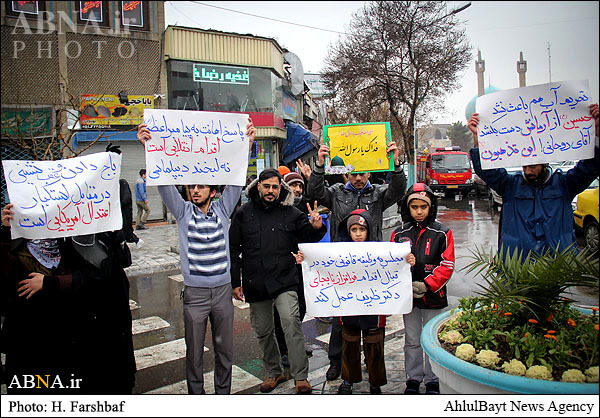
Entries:
POLYGON ((594 156, 587 80, 560 81, 477 98, 481 167, 520 167, 594 156))

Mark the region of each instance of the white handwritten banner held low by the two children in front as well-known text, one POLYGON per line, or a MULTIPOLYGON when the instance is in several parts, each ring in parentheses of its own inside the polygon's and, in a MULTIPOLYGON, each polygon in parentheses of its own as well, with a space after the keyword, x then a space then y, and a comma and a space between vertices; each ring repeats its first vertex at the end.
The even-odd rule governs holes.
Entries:
POLYGON ((409 243, 299 244, 306 312, 314 317, 392 315, 412 310, 409 243))

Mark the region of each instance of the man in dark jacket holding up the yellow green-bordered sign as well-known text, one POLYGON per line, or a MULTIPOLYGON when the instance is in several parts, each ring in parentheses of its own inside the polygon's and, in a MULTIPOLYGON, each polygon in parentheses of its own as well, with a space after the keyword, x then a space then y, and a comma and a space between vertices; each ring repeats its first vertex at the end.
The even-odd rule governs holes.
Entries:
MULTIPOLYGON (((395 142, 388 145, 388 152, 393 153, 394 172, 389 184, 373 185, 369 181, 369 173, 350 173, 347 183, 336 183, 325 187, 325 156, 329 147, 321 145, 317 154, 318 163, 308 180, 307 197, 317 200, 320 205, 330 210, 331 241, 337 239, 340 222, 355 209, 366 209, 373 220, 371 235, 375 241, 383 239, 383 212, 402 198, 406 190, 406 176, 398 159, 398 146, 395 142)), ((335 158, 334 158, 335 159, 335 158)), ((329 339, 329 362, 327 380, 335 380, 340 376, 342 365, 342 329, 339 321, 334 320, 329 339)))

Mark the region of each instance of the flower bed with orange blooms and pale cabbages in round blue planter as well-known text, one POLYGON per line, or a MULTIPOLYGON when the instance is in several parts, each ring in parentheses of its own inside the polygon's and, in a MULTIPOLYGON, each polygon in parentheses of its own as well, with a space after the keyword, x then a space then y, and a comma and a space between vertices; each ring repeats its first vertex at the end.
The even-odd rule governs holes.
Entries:
POLYGON ((463 298, 440 327, 441 346, 461 360, 515 376, 598 383, 598 309, 560 306, 545 320, 515 320, 497 306, 463 298))

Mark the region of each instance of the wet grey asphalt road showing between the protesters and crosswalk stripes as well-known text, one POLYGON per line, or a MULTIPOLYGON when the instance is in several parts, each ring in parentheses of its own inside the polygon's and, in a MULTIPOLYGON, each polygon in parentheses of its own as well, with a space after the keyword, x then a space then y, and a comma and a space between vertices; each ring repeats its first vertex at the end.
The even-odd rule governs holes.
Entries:
MULTIPOLYGON (((394 206, 386 213, 389 216, 395 213, 395 210, 394 206)), ((497 249, 499 218, 499 213, 491 210, 488 201, 483 198, 464 197, 459 201, 454 198, 439 199, 438 220, 450 227, 455 239, 456 270, 448 284, 449 308, 457 306, 460 297, 475 295, 477 283, 480 283, 481 279, 474 277, 472 273, 466 274, 461 269, 469 263, 470 249, 475 246, 494 251, 497 249)), ((392 229, 384 230, 384 240, 389 240, 391 233, 392 229)), ((135 335, 136 350, 177 341, 181 348, 184 327, 179 293, 183 283, 173 279, 177 274, 178 271, 131 280, 130 299, 137 302, 137 307, 132 310, 133 319, 157 316, 169 324, 165 328, 135 335)), ((575 299, 579 303, 598 305, 597 292, 587 294, 578 291, 577 293, 575 299)), ((311 320, 303 324, 303 330, 305 340, 313 349, 311 371, 326 366, 328 364, 327 344, 315 337, 329 332, 330 325, 311 320)), ((204 355, 205 371, 214 369, 211 338, 209 327, 205 341, 205 346, 209 350, 204 355)), ((260 348, 250 325, 250 310, 238 307, 235 309, 234 319, 234 365, 261 378, 264 376, 264 369, 260 358, 260 348)), ((181 384, 181 381, 185 380, 185 358, 180 357, 174 361, 166 361, 138 370, 136 380, 134 393, 145 393, 178 382, 181 384)), ((256 392, 255 386, 239 393, 256 392)))

